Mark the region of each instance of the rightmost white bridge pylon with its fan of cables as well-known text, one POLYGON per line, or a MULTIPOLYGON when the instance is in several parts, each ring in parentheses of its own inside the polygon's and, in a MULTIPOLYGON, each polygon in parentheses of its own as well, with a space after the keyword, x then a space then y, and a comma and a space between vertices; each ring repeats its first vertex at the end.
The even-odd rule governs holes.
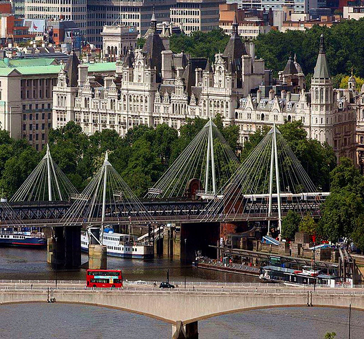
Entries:
MULTIPOLYGON (((229 181, 215 195, 201 219, 238 221, 254 217, 278 221, 281 231, 282 202, 285 208, 301 215, 317 206, 330 193, 317 192, 275 125, 249 154, 229 181)), ((318 208, 319 209, 319 208, 318 208)))

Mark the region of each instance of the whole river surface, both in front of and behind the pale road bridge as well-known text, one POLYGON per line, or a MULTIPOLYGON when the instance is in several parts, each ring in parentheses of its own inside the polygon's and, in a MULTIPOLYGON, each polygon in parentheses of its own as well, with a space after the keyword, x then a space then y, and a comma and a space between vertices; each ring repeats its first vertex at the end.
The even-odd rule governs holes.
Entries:
MULTIPOLYGON (((87 256, 83 255, 83 262, 87 256)), ((182 281, 179 261, 155 259, 143 262, 108 257, 109 268, 120 268, 124 279, 182 281)), ((256 282, 246 277, 188 267, 188 281, 256 282)), ((53 279, 44 250, 0 248, 0 279, 53 279)), ((57 272, 58 279, 85 278, 85 271, 57 272)), ((0 338, 171 338, 171 326, 120 310, 66 304, 0 306, 0 338)), ((348 310, 335 308, 269 308, 227 314, 199 322, 199 338, 324 338, 336 332, 347 338, 348 310)), ((351 339, 362 339, 364 312, 351 311, 351 339)))

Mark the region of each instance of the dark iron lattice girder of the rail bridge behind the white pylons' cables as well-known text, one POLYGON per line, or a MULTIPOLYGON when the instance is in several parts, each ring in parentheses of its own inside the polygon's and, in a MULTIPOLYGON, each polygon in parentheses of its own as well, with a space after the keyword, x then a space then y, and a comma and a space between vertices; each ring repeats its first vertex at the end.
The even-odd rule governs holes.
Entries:
MULTIPOLYGON (((282 215, 294 210, 302 214, 311 213, 314 216, 320 215, 320 204, 324 200, 300 200, 282 199, 282 215)), ((18 219, 24 224, 40 224, 41 226, 61 226, 61 219, 70 208, 71 201, 37 201, 37 202, 9 202, 18 219)), ((158 223, 163 222, 193 222, 193 221, 246 221, 246 220, 274 220, 278 216, 277 199, 272 203, 272 214, 268 217, 268 201, 245 199, 242 202, 242 210, 238 213, 221 216, 223 208, 209 211, 207 200, 148 200, 143 201, 145 209, 158 223), (208 216, 204 216, 207 213, 208 216), (209 217, 211 216, 211 217, 209 217)), ((106 222, 125 224, 129 222, 131 216, 133 222, 148 222, 148 215, 128 203, 122 201, 115 205, 109 204, 106 210, 106 222)), ((87 208, 83 210, 78 223, 83 223, 87 208)), ((93 221, 100 222, 102 206, 99 204, 94 209, 93 221)), ((12 225, 14 216, 9 215, 7 209, 3 209, 0 204, 0 227, 12 225)), ((13 223, 14 225, 14 223, 13 223)), ((14 225, 16 226, 16 225, 14 225)))

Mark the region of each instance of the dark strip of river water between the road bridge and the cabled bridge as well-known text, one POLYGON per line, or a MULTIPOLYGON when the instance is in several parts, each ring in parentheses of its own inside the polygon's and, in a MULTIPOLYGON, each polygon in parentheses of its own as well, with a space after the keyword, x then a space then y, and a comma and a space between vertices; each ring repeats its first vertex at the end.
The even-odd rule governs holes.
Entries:
MULTIPOLYGON (((82 254, 82 262, 87 262, 87 254, 82 254)), ((149 261, 107 257, 108 268, 121 269, 124 279, 162 281, 169 269, 171 281, 184 280, 184 263, 180 260, 153 259, 149 261)), ((85 279, 85 270, 58 271, 57 278, 85 279)), ((232 273, 216 272, 187 265, 187 281, 230 281, 256 282, 258 278, 232 273)), ((54 279, 55 271, 47 263, 47 252, 39 249, 0 247, 0 279, 54 279)))

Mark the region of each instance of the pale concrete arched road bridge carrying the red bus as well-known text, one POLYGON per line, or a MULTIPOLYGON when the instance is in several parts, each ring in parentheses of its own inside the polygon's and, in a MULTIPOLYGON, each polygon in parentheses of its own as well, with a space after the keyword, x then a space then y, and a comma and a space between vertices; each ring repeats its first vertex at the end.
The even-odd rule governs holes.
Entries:
POLYGON ((150 285, 122 290, 93 290, 81 286, 46 289, 34 284, 0 285, 0 304, 47 302, 116 308, 162 320, 172 325, 172 338, 198 338, 198 322, 217 315, 271 307, 334 307, 364 310, 364 289, 316 291, 303 287, 197 285, 191 289, 160 290, 150 285), (23 285, 23 286, 22 286, 23 285), (24 287, 24 289, 22 289, 24 287))

